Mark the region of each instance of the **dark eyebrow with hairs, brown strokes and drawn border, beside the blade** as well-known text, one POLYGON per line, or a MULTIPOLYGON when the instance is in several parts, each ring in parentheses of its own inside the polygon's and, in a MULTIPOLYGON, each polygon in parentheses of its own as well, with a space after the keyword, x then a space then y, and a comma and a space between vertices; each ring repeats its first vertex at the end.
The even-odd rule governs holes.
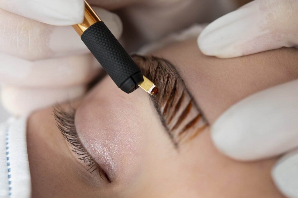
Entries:
MULTIPOLYGON (((175 139, 175 134, 173 133, 173 130, 176 130, 181 125, 181 123, 186 119, 187 115, 190 113, 192 108, 195 108, 198 111, 197 115, 195 115, 195 117, 191 119, 187 124, 185 124, 182 130, 177 133, 177 136, 181 137, 182 135, 185 135, 186 131, 192 128, 195 125, 195 123, 197 123, 200 119, 204 122, 204 125, 195 132, 196 135, 199 134, 199 131, 202 131, 206 126, 209 125, 209 121, 206 119, 203 111, 198 106, 198 103, 195 101, 192 94, 188 90, 184 80, 181 78, 181 75, 179 74, 179 71, 170 61, 155 56, 140 56, 137 54, 132 55, 132 57, 134 59, 141 60, 143 63, 149 63, 145 68, 143 68, 144 66, 140 66, 141 71, 144 71, 143 73, 147 76, 147 78, 153 80, 153 82, 155 82, 156 85, 159 86, 160 90, 163 90, 163 93, 159 93, 155 96, 150 96, 150 100, 153 102, 153 105, 157 110, 161 123, 165 131, 169 135, 170 140, 174 144, 175 148, 178 148, 179 141, 175 139), (155 68, 153 68, 154 64, 156 64, 155 68), (180 86, 182 85, 182 93, 179 94, 179 98, 176 104, 174 104, 178 92, 178 84, 180 84, 180 86), (166 97, 167 95, 168 97, 166 97), (182 102, 187 96, 189 97, 190 101, 178 116, 176 123, 172 127, 169 127, 169 124, 171 124, 173 117, 177 115, 178 111, 181 109, 182 102), (160 100, 165 98, 166 100, 164 102, 164 109, 161 110, 160 100), (172 112, 170 114, 171 110, 172 112), (166 115, 168 114, 170 115, 167 116, 168 119, 166 120, 166 115)), ((193 136, 194 135, 191 135, 191 138, 193 138, 193 136)))

